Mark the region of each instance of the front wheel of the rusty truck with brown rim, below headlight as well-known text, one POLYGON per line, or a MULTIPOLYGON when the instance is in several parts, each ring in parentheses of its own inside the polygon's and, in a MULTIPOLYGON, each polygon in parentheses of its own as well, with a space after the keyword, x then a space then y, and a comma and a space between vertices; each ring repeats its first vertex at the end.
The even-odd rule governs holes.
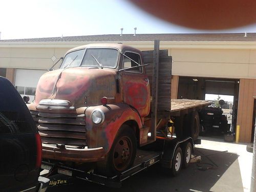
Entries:
POLYGON ((99 172, 112 176, 129 168, 136 156, 136 136, 132 128, 122 125, 104 161, 98 162, 99 172))

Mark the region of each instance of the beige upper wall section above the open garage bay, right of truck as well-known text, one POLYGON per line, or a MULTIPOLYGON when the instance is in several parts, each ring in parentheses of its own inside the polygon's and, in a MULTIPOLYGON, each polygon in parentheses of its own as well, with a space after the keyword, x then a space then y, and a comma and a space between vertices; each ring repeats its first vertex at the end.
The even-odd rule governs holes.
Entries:
POLYGON ((173 75, 255 78, 255 50, 173 49, 173 75))

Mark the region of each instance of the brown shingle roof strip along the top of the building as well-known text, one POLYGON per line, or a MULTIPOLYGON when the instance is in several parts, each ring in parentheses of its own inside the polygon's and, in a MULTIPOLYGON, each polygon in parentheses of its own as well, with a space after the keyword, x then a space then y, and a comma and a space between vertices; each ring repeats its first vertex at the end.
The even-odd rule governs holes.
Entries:
POLYGON ((110 34, 28 39, 7 39, 0 42, 93 42, 93 41, 256 41, 256 33, 195 33, 195 34, 110 34))

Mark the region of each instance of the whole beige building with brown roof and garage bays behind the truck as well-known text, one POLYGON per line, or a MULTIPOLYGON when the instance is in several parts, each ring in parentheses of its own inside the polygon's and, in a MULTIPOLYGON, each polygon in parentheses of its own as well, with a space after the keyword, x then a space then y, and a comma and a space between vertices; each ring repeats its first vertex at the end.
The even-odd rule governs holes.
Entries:
POLYGON ((240 142, 251 142, 256 109, 256 33, 123 34, 0 40, 0 75, 21 95, 33 99, 41 74, 67 50, 95 42, 122 42, 140 50, 160 49, 173 56, 172 97, 204 99, 233 96, 234 129, 240 142))

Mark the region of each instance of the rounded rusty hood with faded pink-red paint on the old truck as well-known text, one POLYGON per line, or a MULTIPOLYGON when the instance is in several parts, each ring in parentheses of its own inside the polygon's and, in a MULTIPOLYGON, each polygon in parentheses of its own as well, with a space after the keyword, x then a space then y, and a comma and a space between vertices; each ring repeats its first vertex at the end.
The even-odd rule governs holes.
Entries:
POLYGON ((102 97, 115 98, 115 76, 114 70, 84 67, 47 72, 38 81, 35 104, 42 99, 60 99, 75 108, 99 105, 102 97))

